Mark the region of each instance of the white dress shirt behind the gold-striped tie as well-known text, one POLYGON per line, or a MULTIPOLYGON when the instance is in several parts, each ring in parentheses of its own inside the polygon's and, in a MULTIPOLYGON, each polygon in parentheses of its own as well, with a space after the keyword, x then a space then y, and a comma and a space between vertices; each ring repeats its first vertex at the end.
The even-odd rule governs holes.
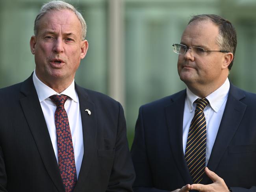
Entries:
MULTIPOLYGON (((219 130, 219 125, 221 124, 221 119, 228 98, 229 87, 230 83, 227 78, 223 85, 221 85, 221 87, 219 87, 217 90, 215 90, 206 97, 210 103, 204 109, 204 115, 206 119, 206 166, 208 164, 211 155, 211 150, 213 148, 213 144, 215 142, 215 138, 219 130)), ((197 95, 193 94, 193 92, 191 92, 191 90, 187 88, 187 96, 185 100, 183 116, 184 155, 186 151, 187 135, 189 132, 190 123, 195 114, 196 103, 194 102, 198 98, 199 97, 197 95)))

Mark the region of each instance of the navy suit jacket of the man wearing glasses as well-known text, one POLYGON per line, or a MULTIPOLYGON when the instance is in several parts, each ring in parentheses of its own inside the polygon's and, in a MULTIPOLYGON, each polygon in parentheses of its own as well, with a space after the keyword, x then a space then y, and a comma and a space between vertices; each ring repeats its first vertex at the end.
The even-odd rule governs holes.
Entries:
MULTIPOLYGON (((134 192, 163 192, 192 184, 182 146, 186 90, 143 105, 135 127, 134 192)), ((256 191, 256 95, 230 85, 208 162, 233 192, 256 191)), ((212 181, 206 176, 203 184, 212 181)))

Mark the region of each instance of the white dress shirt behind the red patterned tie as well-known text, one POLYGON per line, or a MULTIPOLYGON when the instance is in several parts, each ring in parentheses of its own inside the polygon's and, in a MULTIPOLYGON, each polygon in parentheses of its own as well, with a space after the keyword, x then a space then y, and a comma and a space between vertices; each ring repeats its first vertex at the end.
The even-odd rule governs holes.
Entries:
MULTIPOLYGON (((40 79, 38 79, 35 74, 35 70, 33 73, 33 83, 37 91, 37 95, 43 110, 43 114, 45 116, 46 125, 50 134, 50 138, 52 140, 52 146, 54 149, 56 160, 58 162, 58 146, 56 136, 57 134, 54 119, 56 105, 52 102, 52 100, 49 97, 54 94, 60 94, 57 93, 55 90, 51 89, 50 87, 48 87, 47 85, 45 85, 42 81, 40 81, 40 79)), ((76 177, 78 178, 83 159, 83 130, 81 113, 79 108, 79 100, 75 90, 74 80, 67 89, 61 92, 61 94, 69 96, 69 98, 65 102, 64 107, 69 118, 69 127, 72 135, 74 157, 76 163, 76 177)))

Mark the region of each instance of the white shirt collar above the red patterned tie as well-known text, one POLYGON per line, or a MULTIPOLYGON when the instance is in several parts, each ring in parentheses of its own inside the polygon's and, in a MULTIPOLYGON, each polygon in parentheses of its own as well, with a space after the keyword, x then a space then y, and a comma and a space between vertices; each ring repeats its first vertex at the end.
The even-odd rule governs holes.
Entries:
POLYGON ((74 100, 74 102, 78 102, 78 95, 76 94, 74 80, 69 85, 69 87, 67 87, 67 89, 63 90, 63 92, 61 92, 60 94, 58 92, 56 92, 55 90, 53 90, 52 88, 45 85, 45 83, 43 83, 36 76, 35 70, 33 73, 33 83, 35 85, 35 90, 37 91, 39 102, 43 102, 44 100, 46 100, 47 98, 49 98, 50 96, 55 95, 55 94, 56 95, 60 95, 60 94, 67 95, 72 100, 74 100))

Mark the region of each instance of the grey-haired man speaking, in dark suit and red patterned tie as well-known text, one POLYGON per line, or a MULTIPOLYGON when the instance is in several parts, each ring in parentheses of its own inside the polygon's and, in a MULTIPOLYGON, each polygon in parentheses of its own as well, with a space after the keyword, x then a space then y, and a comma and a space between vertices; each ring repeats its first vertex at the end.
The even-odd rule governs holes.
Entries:
POLYGON ((70 4, 45 4, 30 47, 35 71, 0 89, 1 192, 132 192, 119 102, 74 82, 86 24, 70 4))

